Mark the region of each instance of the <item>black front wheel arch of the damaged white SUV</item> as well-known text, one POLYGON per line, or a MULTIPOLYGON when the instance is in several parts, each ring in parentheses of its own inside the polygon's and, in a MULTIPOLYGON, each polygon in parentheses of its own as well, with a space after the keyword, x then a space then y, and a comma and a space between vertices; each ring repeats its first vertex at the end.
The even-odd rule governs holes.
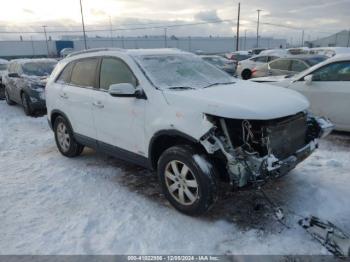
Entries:
POLYGON ((199 141, 178 130, 161 130, 153 135, 148 148, 148 158, 154 170, 162 153, 175 145, 192 145, 200 150, 204 150, 199 141))

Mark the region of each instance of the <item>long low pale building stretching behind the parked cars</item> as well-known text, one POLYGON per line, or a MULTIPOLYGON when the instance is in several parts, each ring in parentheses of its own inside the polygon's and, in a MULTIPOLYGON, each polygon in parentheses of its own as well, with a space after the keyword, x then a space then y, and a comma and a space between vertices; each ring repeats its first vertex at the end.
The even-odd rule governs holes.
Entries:
MULTIPOLYGON (((273 37, 260 38, 261 48, 285 48, 285 39, 273 37)), ((126 49, 139 48, 179 48, 185 51, 216 54, 231 52, 236 49, 234 37, 176 37, 170 36, 142 36, 142 37, 89 37, 87 38, 88 48, 117 47, 126 49)), ((13 59, 19 57, 57 57, 64 48, 74 50, 84 49, 82 36, 62 36, 61 40, 48 41, 48 48, 45 41, 0 41, 0 57, 13 59)), ((240 50, 256 48, 255 37, 241 37, 240 50)))

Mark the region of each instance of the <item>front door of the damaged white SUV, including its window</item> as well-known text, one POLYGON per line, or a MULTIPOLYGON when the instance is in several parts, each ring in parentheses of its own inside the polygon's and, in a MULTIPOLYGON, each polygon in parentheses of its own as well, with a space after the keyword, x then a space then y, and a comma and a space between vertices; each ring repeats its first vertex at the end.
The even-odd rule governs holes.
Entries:
MULTIPOLYGON (((121 59, 104 57, 100 68, 100 91, 93 97, 93 115, 98 141, 102 146, 114 146, 145 156, 145 106, 147 100, 135 97, 113 97, 108 93, 112 84, 139 83, 129 66, 121 59)), ((139 87, 138 87, 139 88, 139 87)))

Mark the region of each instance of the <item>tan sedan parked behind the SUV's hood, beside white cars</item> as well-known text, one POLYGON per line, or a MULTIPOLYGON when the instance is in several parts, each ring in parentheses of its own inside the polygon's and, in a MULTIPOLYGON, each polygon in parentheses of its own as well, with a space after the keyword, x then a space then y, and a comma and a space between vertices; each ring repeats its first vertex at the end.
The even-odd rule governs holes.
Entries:
POLYGON ((325 61, 327 58, 322 55, 293 55, 279 58, 254 68, 252 77, 295 75, 325 61))

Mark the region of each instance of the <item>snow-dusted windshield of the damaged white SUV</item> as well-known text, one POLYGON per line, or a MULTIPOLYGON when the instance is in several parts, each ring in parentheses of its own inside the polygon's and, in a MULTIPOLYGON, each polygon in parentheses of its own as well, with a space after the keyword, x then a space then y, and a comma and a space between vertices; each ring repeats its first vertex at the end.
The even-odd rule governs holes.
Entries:
POLYGON ((191 54, 135 58, 152 84, 160 89, 199 89, 234 82, 230 75, 191 54))

